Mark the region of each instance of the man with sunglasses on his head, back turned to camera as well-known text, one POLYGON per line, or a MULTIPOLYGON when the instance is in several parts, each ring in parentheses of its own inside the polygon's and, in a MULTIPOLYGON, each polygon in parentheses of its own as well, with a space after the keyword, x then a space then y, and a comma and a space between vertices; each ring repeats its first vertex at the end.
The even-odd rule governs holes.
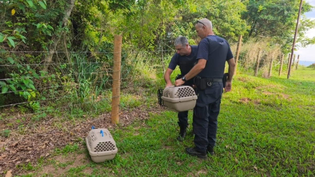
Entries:
MULTIPOLYGON (((186 80, 196 76, 198 99, 192 119, 195 147, 187 147, 186 152, 206 158, 207 153, 214 154, 225 62, 227 61, 229 68, 224 91, 229 92, 232 88, 235 61, 227 41, 213 33, 210 20, 198 20, 195 28, 201 38, 196 58, 198 63, 185 75, 186 80)), ((184 83, 185 81, 178 79, 175 86, 184 83)))

